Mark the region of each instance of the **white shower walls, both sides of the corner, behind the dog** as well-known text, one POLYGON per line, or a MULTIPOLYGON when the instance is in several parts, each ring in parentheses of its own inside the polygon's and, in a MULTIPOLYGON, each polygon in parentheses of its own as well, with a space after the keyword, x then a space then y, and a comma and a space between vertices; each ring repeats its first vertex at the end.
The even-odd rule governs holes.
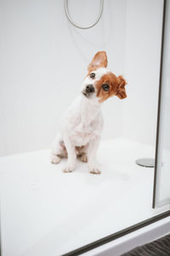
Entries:
MULTIPOLYGON (((0 0, 0 155, 49 147, 101 49, 128 82, 126 100, 104 103, 103 137, 155 143, 162 2, 105 0, 99 24, 81 31, 63 0, 0 0)), ((98 0, 69 3, 82 26, 98 13, 98 0)))

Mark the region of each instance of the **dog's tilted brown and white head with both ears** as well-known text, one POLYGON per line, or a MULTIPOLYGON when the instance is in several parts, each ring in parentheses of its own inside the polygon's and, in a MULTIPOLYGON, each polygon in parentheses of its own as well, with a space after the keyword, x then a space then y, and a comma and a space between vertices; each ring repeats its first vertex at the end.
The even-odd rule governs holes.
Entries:
POLYGON ((105 51, 99 51, 88 65, 88 75, 83 81, 82 94, 98 102, 104 102, 111 96, 126 98, 125 79, 122 76, 116 77, 106 67, 107 55, 105 51))

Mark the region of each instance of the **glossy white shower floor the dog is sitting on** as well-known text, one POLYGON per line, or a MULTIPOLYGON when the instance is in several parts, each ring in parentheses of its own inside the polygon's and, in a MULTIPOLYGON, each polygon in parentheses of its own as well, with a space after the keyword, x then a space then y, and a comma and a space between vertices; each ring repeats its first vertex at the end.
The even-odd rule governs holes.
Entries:
POLYGON ((0 159, 3 256, 68 253, 154 216, 154 169, 135 160, 155 148, 122 138, 102 141, 101 175, 77 162, 72 173, 49 163, 49 150, 0 159))

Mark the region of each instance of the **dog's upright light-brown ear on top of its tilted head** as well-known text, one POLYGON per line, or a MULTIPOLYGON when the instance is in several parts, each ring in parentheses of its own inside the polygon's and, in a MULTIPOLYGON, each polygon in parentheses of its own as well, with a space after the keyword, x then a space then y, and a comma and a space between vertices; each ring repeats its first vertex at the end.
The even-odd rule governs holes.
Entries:
POLYGON ((105 51, 98 51, 93 60, 88 65, 88 72, 92 72, 99 67, 107 67, 107 55, 105 51))

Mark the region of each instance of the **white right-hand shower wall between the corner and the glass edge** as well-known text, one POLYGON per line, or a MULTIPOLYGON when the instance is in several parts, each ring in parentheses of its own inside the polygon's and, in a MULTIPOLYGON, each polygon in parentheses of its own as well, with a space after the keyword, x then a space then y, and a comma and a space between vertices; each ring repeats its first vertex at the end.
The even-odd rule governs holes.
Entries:
POLYGON ((122 135, 154 145, 161 56, 162 0, 127 0, 122 135))

